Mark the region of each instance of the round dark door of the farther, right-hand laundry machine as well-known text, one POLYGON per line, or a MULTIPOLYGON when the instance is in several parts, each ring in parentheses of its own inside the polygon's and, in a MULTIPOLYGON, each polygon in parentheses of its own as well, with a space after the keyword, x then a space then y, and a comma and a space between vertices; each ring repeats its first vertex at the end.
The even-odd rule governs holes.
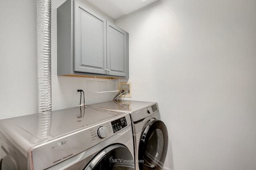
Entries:
POLYGON ((146 124, 140 139, 138 162, 140 170, 162 169, 168 149, 168 132, 160 120, 146 124))

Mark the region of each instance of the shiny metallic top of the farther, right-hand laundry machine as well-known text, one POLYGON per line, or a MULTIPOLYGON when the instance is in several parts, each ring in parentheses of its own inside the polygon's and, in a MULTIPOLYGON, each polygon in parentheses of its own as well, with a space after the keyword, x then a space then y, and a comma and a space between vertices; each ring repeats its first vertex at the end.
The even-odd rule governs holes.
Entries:
POLYGON ((114 111, 125 111, 126 113, 132 113, 138 111, 144 107, 156 104, 155 102, 140 102, 140 101, 130 101, 130 100, 116 100, 110 102, 103 102, 98 104, 87 105, 89 107, 110 109, 114 111))

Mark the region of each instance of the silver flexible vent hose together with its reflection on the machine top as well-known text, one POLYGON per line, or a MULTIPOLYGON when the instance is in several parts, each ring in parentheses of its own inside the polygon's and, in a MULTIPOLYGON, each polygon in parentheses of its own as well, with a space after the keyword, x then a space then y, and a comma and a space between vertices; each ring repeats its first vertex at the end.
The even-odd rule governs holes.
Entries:
POLYGON ((52 124, 51 0, 37 0, 38 137, 50 138, 52 124))

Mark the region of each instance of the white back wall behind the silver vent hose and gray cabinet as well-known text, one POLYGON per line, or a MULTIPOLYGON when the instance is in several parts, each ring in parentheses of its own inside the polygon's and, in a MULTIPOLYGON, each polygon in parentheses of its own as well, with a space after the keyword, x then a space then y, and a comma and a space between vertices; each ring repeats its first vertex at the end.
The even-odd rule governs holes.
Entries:
MULTIPOLYGON (((53 110, 78 106, 80 94, 75 90, 85 90, 86 86, 85 78, 57 76, 56 15, 58 6, 65 1, 52 0, 53 110)), ((86 0, 82 2, 99 12, 86 0)), ((1 0, 0 22, 0 119, 37 113, 36 0, 1 0)), ((115 94, 86 93, 86 104, 112 100, 115 94)))

